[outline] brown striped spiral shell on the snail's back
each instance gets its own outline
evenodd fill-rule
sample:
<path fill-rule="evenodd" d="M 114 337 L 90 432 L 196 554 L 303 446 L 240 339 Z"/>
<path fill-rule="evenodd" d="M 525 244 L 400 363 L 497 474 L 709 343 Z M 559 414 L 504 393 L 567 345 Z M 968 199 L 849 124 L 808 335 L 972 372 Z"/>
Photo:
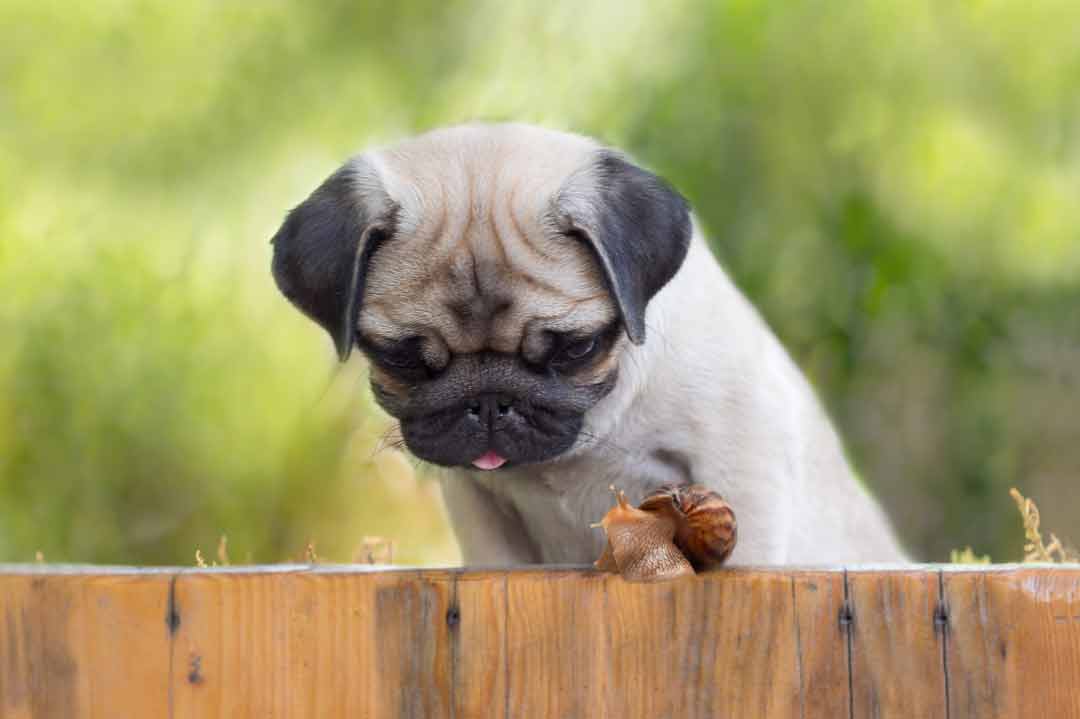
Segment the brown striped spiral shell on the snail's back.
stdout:
<path fill-rule="evenodd" d="M 701 485 L 663 488 L 640 504 L 646 512 L 675 520 L 675 546 L 698 571 L 723 565 L 739 539 L 739 525 L 731 505 Z"/>

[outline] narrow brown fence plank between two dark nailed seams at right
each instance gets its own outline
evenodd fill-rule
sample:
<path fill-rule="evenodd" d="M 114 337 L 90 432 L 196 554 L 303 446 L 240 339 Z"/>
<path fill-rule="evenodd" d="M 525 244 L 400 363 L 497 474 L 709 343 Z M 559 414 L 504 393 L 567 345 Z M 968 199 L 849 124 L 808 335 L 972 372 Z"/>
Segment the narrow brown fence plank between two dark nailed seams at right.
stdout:
<path fill-rule="evenodd" d="M 947 716 L 939 572 L 848 574 L 852 716 Z"/>

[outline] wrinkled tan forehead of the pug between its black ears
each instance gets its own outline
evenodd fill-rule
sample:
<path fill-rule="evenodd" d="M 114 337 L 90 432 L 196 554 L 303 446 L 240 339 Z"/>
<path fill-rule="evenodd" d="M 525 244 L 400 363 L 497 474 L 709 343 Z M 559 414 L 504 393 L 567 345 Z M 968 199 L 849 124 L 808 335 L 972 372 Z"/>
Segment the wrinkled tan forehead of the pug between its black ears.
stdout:
<path fill-rule="evenodd" d="M 389 306 L 384 320 L 422 326 L 458 354 L 517 352 L 538 317 L 558 318 L 562 331 L 613 315 L 593 254 L 548 217 L 554 194 L 595 147 L 550 131 L 484 125 L 377 151 L 404 219 L 374 258 L 365 302 Z"/>

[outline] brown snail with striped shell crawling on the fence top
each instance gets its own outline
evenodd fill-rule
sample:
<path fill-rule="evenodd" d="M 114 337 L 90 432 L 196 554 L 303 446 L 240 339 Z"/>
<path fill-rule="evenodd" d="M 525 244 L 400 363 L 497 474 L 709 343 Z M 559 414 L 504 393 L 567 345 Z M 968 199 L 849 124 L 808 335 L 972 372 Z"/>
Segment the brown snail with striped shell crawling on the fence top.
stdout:
<path fill-rule="evenodd" d="M 659 489 L 636 508 L 623 492 L 611 491 L 616 506 L 593 525 L 608 538 L 597 569 L 630 581 L 660 581 L 719 567 L 734 548 L 734 512 L 710 489 Z"/>

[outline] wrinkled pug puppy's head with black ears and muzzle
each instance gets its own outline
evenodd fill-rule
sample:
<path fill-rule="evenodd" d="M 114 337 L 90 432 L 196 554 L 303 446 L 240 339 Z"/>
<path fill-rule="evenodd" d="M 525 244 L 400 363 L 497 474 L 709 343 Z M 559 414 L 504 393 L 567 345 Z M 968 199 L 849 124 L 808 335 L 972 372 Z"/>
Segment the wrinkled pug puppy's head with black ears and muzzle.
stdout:
<path fill-rule="evenodd" d="M 495 469 L 575 444 L 690 234 L 683 198 L 619 152 L 467 125 L 348 161 L 288 214 L 272 269 L 342 360 L 367 355 L 414 455 Z"/>

